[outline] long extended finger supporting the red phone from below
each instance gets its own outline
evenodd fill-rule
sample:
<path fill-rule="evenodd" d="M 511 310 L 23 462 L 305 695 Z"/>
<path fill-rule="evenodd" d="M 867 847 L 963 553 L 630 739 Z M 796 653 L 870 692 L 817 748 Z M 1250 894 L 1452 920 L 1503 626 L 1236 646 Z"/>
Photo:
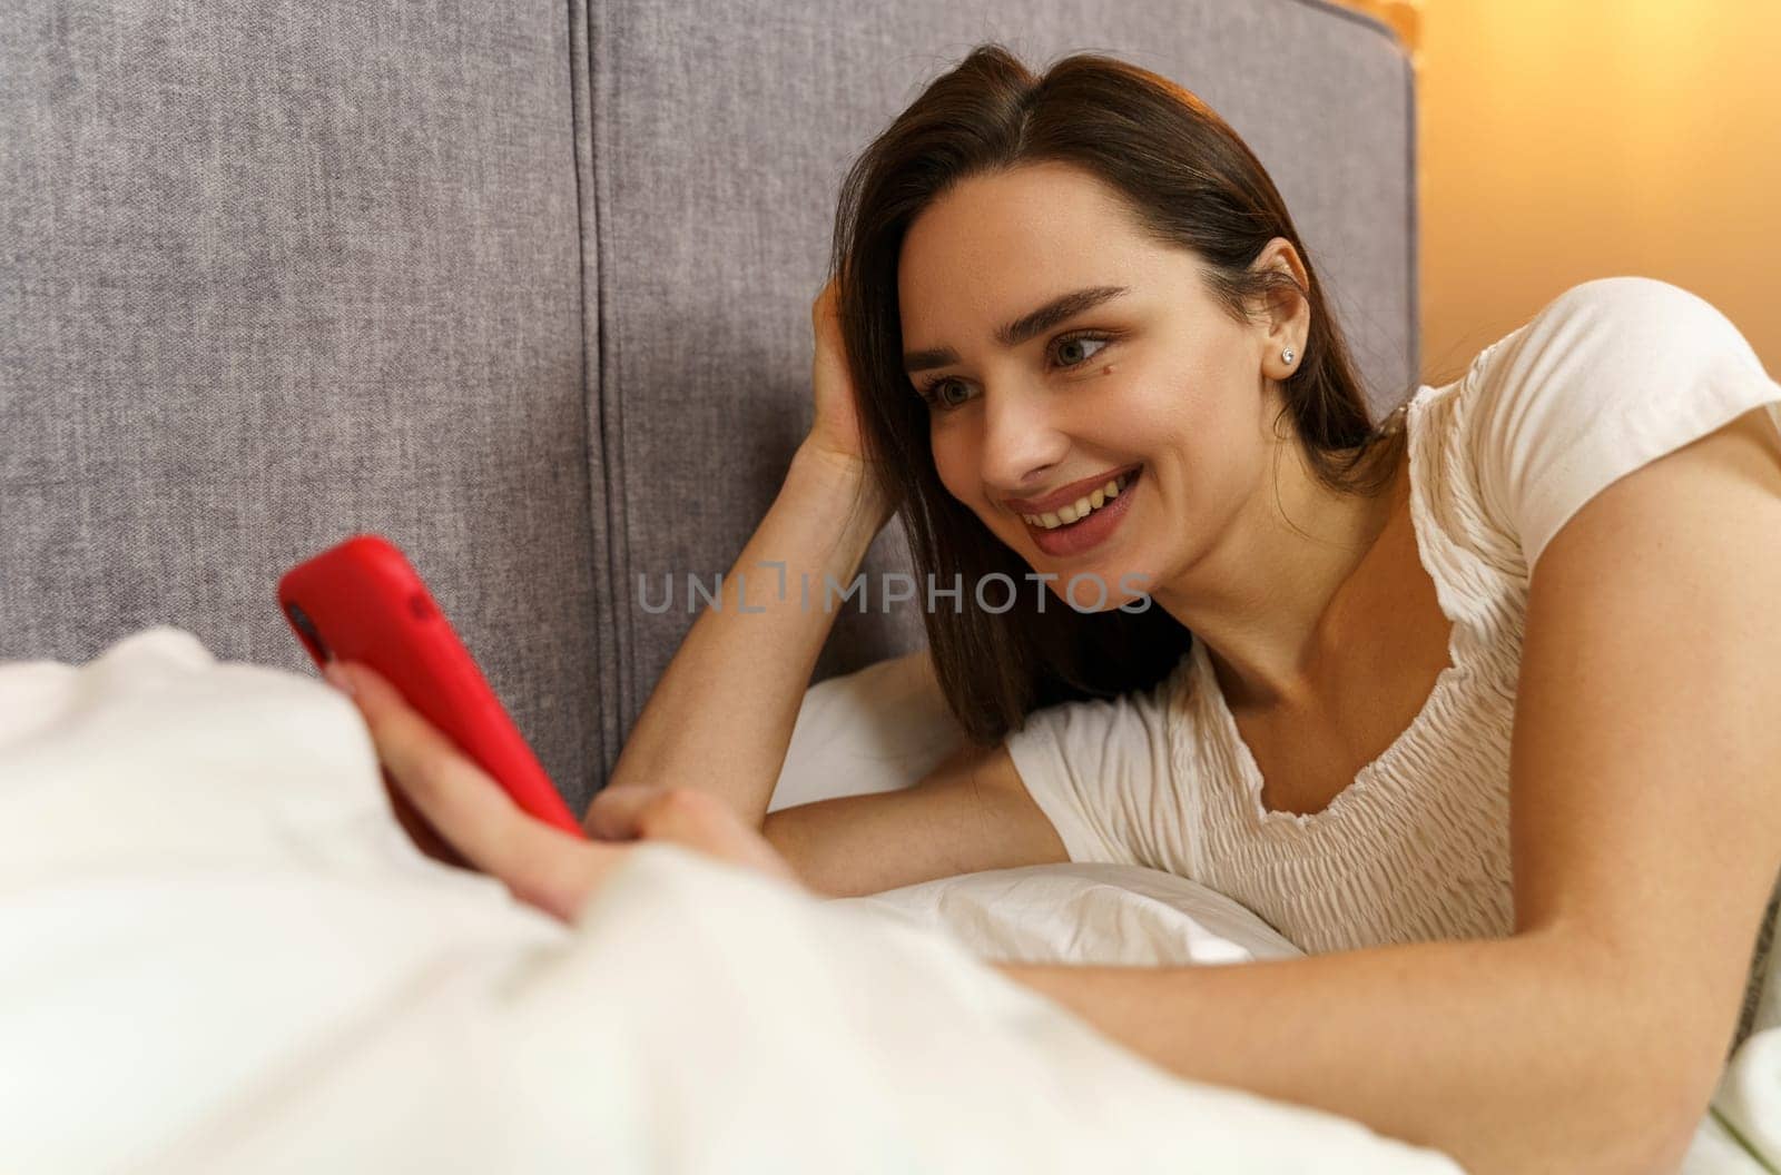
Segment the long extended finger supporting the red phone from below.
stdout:
<path fill-rule="evenodd" d="M 552 865 L 559 842 L 577 840 L 522 812 L 500 783 L 376 669 L 358 662 L 335 666 L 353 685 L 353 701 L 388 774 L 419 815 L 483 872 L 509 887 L 538 888 L 534 874 Z"/>

